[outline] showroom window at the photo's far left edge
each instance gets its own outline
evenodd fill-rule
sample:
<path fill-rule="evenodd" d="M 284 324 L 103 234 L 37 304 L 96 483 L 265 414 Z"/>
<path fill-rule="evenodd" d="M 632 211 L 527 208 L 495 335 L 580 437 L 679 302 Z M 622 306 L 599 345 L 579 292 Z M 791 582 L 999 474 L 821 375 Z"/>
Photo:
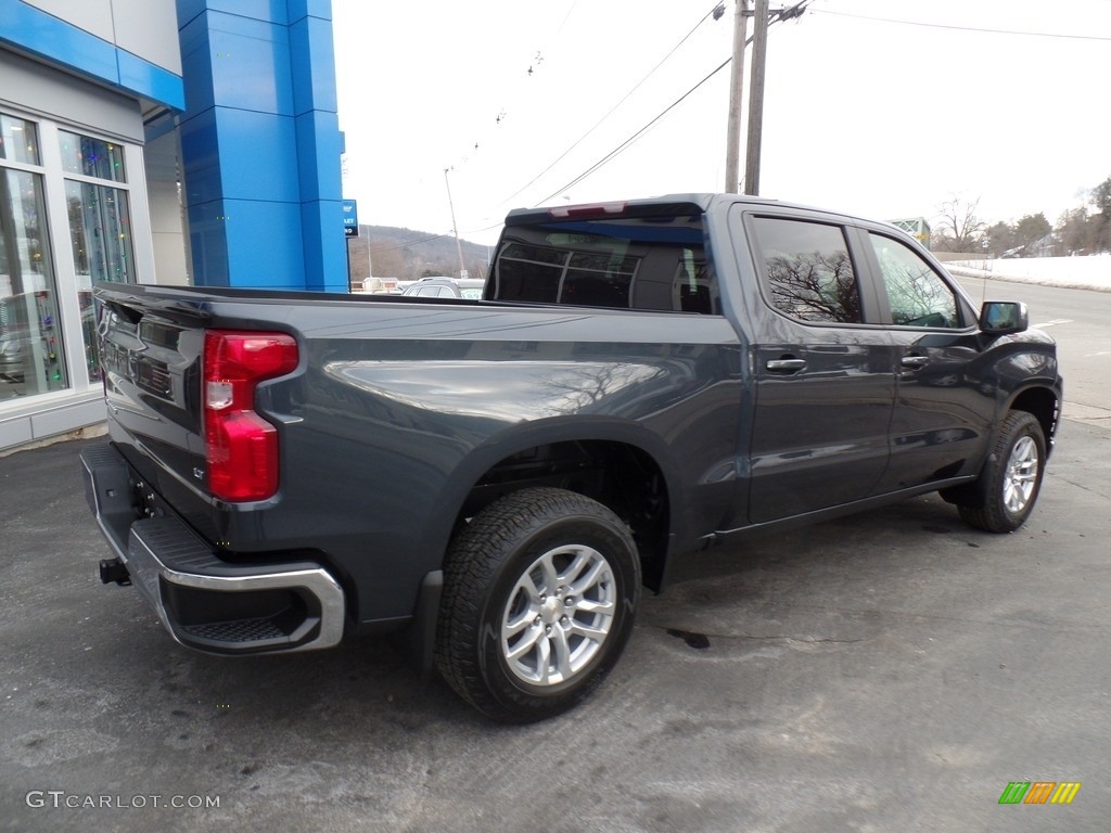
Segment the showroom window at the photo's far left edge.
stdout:
<path fill-rule="evenodd" d="M 0 400 L 69 387 L 33 121 L 0 113 Z"/>

